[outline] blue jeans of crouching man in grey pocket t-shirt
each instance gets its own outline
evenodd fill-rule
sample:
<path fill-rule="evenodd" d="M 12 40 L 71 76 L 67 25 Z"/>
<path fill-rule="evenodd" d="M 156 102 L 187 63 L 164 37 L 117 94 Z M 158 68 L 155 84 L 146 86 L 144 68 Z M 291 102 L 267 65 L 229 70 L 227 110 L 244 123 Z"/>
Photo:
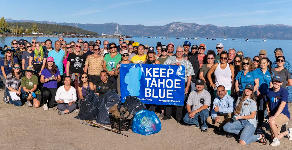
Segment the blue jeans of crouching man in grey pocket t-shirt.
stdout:
<path fill-rule="evenodd" d="M 199 125 L 199 121 L 198 121 L 199 116 L 200 116 L 201 124 L 202 124 L 201 129 L 207 129 L 208 126 L 207 126 L 206 119 L 209 116 L 208 109 L 203 109 L 201 112 L 195 114 L 194 118 L 189 118 L 189 113 L 185 114 L 184 122 L 187 124 Z"/>

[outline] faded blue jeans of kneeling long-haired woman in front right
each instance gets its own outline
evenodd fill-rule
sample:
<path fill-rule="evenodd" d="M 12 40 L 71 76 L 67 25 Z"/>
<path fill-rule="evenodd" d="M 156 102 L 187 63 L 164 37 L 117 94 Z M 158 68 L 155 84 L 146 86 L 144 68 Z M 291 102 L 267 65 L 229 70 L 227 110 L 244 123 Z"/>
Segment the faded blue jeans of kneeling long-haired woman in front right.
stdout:
<path fill-rule="evenodd" d="M 245 119 L 228 122 L 223 126 L 223 129 L 228 133 L 234 133 L 237 135 L 240 133 L 239 139 L 245 141 L 246 145 L 253 141 L 260 140 L 260 135 L 253 134 L 256 131 L 256 127 Z"/>

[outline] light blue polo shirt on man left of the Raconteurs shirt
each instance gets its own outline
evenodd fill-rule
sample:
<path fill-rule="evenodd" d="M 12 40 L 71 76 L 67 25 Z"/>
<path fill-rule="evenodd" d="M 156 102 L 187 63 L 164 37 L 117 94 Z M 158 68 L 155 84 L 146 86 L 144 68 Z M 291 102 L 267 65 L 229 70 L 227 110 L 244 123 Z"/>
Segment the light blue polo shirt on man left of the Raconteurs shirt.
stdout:
<path fill-rule="evenodd" d="M 63 65 L 64 55 L 65 55 L 65 52 L 61 49 L 59 50 L 59 52 L 56 52 L 56 50 L 51 50 L 49 51 L 49 54 L 48 54 L 48 57 L 54 58 L 54 62 L 60 71 L 60 75 L 64 75 L 64 65 Z"/>

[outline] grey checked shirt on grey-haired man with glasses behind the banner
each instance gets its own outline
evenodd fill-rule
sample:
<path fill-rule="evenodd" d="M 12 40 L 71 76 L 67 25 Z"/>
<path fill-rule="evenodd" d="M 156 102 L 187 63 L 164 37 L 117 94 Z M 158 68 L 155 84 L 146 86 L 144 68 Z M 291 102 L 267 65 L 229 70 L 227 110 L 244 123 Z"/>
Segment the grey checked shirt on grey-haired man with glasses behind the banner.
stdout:
<path fill-rule="evenodd" d="M 191 64 L 191 62 L 189 62 L 188 60 L 185 60 L 185 58 L 183 58 L 182 60 L 178 61 L 176 59 L 176 56 L 170 56 L 169 58 L 167 58 L 167 60 L 164 62 L 164 65 L 171 65 L 174 63 L 179 62 L 182 66 L 185 66 L 185 83 L 188 82 L 188 77 L 189 76 L 193 76 L 195 75 L 193 66 Z"/>

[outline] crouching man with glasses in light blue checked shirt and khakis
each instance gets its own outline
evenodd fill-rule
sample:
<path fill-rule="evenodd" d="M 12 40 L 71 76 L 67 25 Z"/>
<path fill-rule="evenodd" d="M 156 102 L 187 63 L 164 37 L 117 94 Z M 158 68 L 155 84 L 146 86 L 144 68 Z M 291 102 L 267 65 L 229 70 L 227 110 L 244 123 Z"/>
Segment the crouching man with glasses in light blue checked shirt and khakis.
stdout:
<path fill-rule="evenodd" d="M 234 99 L 226 93 L 227 91 L 223 85 L 217 87 L 218 97 L 214 99 L 211 116 L 207 118 L 207 122 L 219 127 L 219 131 L 224 124 L 232 120 L 231 113 L 234 110 Z"/>

